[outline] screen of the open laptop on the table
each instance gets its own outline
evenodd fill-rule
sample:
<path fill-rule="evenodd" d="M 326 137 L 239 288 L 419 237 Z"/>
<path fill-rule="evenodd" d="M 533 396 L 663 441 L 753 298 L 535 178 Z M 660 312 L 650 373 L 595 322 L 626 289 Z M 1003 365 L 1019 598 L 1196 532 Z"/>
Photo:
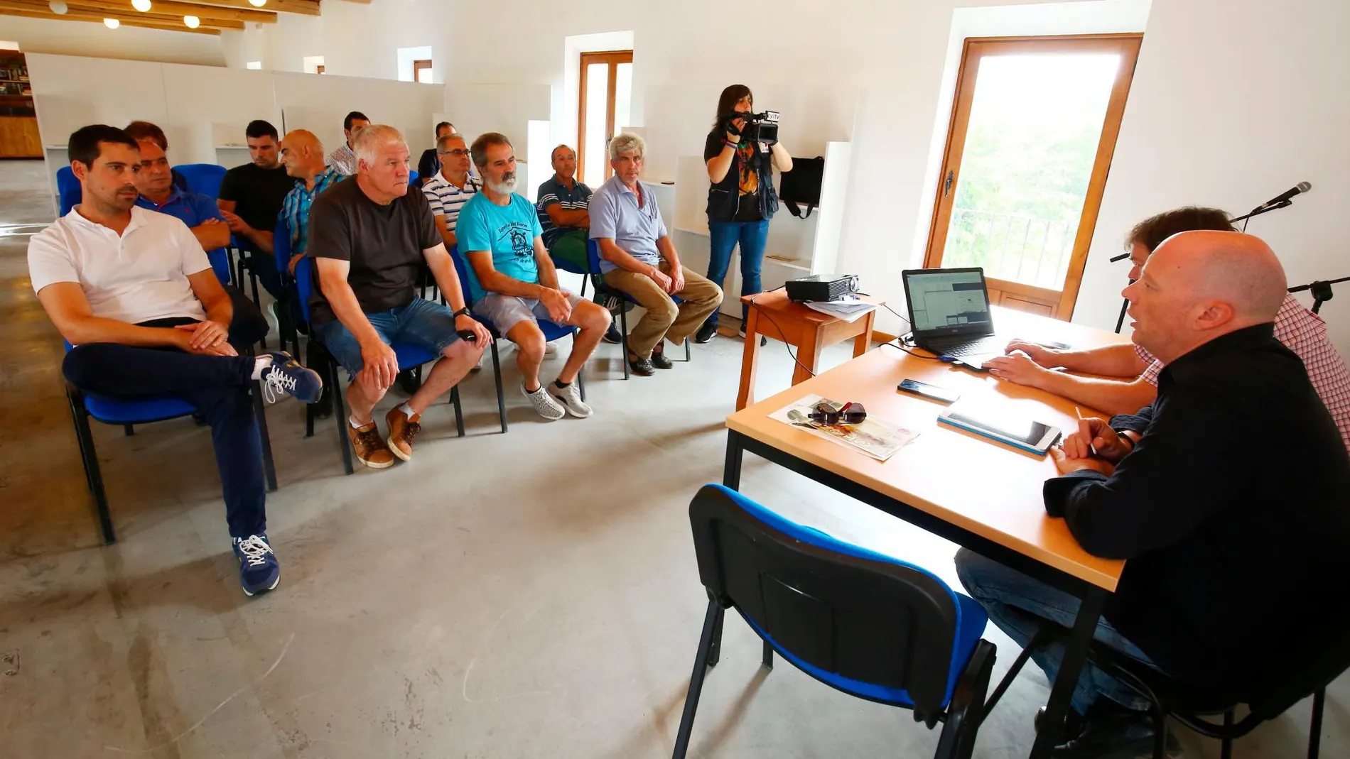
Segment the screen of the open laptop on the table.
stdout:
<path fill-rule="evenodd" d="M 906 270 L 903 276 L 915 337 L 994 333 L 983 270 Z"/>

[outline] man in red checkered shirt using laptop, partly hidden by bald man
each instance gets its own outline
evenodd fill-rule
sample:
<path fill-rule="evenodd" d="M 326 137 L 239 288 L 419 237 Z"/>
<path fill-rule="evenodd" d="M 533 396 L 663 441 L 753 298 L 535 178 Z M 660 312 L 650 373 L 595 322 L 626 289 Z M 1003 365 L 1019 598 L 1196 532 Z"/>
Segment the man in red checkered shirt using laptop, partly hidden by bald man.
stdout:
<path fill-rule="evenodd" d="M 1137 224 L 1126 237 L 1130 263 L 1134 264 L 1130 280 L 1139 278 L 1143 263 L 1164 240 L 1196 229 L 1234 231 L 1227 213 L 1195 206 L 1160 213 Z M 1293 295 L 1287 295 L 1274 317 L 1274 336 L 1303 359 L 1312 387 L 1331 413 L 1341 430 L 1341 439 L 1350 449 L 1350 371 L 1327 340 L 1326 322 Z M 1162 363 L 1138 345 L 1076 351 L 1026 340 L 1008 342 L 1007 356 L 992 359 L 984 365 L 1000 380 L 1037 387 L 1110 414 L 1133 414 L 1153 403 L 1158 391 L 1158 372 L 1162 371 Z M 1134 379 L 1081 377 L 1054 368 Z"/>

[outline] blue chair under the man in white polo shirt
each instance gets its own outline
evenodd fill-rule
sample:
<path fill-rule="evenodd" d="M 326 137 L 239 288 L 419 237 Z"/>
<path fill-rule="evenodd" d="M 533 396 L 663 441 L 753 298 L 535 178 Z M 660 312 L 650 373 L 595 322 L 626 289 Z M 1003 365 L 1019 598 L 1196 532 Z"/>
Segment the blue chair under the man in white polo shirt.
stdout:
<path fill-rule="evenodd" d="M 70 344 L 66 342 L 66 352 Z M 103 472 L 99 468 L 99 452 L 93 444 L 93 430 L 89 427 L 89 418 L 94 418 L 105 425 L 122 425 L 127 435 L 134 434 L 134 425 L 148 425 L 163 422 L 180 417 L 190 417 L 197 408 L 186 400 L 176 396 L 146 396 L 146 398 L 115 398 L 96 392 L 85 392 L 72 383 L 66 384 L 66 402 L 70 404 L 70 417 L 76 425 L 76 439 L 80 442 L 80 458 L 84 462 L 85 484 L 93 495 L 94 508 L 99 514 L 99 527 L 103 531 L 104 545 L 117 542 L 117 534 L 112 527 L 112 514 L 108 510 L 108 495 L 103 488 Z M 258 382 L 252 383 L 254 411 L 258 414 L 258 434 L 262 438 L 262 462 L 267 476 L 267 489 L 277 489 L 277 468 L 271 460 L 271 439 L 267 434 L 267 417 L 263 414 L 262 388 Z"/>

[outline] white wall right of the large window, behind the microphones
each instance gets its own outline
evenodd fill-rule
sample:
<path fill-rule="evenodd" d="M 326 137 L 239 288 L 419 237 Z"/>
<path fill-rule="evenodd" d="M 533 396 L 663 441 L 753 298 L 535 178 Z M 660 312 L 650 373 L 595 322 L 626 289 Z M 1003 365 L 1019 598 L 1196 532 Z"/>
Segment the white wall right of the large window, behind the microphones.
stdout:
<path fill-rule="evenodd" d="M 1154 1 L 1075 321 L 1115 325 L 1127 264 L 1107 259 L 1134 222 L 1185 204 L 1246 213 L 1300 181 L 1312 191 L 1247 231 L 1270 243 L 1291 286 L 1350 276 L 1347 31 L 1343 0 Z M 1346 284 L 1322 310 L 1342 356 Z"/>

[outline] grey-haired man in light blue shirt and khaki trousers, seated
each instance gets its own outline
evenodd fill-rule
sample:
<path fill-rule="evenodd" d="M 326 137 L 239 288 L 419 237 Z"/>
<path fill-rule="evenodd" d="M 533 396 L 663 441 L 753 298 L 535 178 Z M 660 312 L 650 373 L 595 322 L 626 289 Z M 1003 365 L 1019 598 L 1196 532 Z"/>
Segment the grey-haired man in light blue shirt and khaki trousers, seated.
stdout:
<path fill-rule="evenodd" d="M 614 175 L 595 190 L 589 209 L 605 284 L 647 310 L 628 334 L 628 365 L 640 376 L 672 368 L 663 351 L 666 340 L 679 345 L 722 305 L 721 287 L 680 266 L 656 197 L 637 179 L 645 151 L 637 135 L 610 140 Z"/>

